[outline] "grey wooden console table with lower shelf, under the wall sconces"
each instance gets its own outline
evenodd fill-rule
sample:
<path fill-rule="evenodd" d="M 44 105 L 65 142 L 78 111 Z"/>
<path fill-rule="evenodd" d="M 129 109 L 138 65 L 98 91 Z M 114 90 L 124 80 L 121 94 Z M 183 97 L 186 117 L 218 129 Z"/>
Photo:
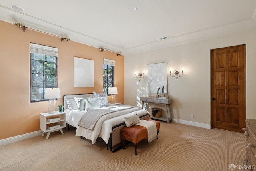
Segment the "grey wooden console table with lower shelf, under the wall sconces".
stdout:
<path fill-rule="evenodd" d="M 140 101 L 142 101 L 141 108 L 143 109 L 144 103 L 156 103 L 160 105 L 165 105 L 166 108 L 166 117 L 151 117 L 155 120 L 167 121 L 169 122 L 172 120 L 172 111 L 170 104 L 172 103 L 172 99 L 157 99 L 156 97 L 140 97 Z M 148 110 L 148 105 L 146 106 L 146 110 Z"/>

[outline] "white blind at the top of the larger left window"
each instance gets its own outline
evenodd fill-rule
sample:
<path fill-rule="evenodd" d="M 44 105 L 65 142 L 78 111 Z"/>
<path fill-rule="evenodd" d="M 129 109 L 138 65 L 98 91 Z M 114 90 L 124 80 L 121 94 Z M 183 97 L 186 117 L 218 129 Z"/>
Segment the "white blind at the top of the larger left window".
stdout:
<path fill-rule="evenodd" d="M 58 56 L 58 48 L 30 43 L 30 53 Z"/>

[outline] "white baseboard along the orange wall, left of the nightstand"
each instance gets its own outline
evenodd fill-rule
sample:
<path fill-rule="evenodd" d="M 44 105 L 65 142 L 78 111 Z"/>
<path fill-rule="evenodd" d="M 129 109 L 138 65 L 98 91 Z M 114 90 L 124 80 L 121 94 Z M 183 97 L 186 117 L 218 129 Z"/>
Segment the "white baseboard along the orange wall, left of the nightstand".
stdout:
<path fill-rule="evenodd" d="M 38 135 L 42 135 L 42 133 L 43 133 L 43 131 L 35 131 L 35 132 L 30 132 L 30 133 L 18 135 L 18 136 L 15 136 L 15 137 L 1 139 L 0 140 L 0 146 L 10 144 L 10 143 L 15 143 L 15 142 L 18 142 L 18 141 L 21 141 L 21 140 L 24 140 L 24 139 L 36 137 Z"/>

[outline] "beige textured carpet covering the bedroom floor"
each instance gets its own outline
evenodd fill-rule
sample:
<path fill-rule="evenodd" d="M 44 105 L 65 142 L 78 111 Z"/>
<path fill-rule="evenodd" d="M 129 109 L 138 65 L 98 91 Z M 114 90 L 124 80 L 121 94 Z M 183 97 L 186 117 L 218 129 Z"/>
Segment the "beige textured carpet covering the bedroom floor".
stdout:
<path fill-rule="evenodd" d="M 0 147 L 0 171 L 230 171 L 246 165 L 242 133 L 160 122 L 159 139 L 142 140 L 116 153 L 98 138 L 75 136 L 75 129 L 38 136 Z M 241 171 L 241 169 L 240 169 Z"/>

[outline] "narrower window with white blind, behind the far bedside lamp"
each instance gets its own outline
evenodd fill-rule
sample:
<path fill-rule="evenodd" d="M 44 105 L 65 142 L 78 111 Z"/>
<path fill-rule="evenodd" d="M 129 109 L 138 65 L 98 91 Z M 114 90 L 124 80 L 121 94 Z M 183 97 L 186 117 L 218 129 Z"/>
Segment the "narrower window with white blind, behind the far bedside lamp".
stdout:
<path fill-rule="evenodd" d="M 103 59 L 103 91 L 108 94 L 108 87 L 114 87 L 114 60 Z"/>

